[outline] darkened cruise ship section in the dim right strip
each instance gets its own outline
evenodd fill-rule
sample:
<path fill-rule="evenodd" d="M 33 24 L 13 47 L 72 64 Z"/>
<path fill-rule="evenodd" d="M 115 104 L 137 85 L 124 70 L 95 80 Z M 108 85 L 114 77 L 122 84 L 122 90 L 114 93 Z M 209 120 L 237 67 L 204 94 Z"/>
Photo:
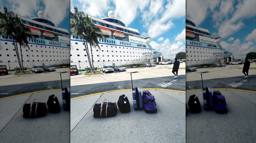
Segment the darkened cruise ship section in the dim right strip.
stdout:
<path fill-rule="evenodd" d="M 232 53 L 225 51 L 220 42 L 220 37 L 211 36 L 207 29 L 186 19 L 186 65 L 226 62 Z"/>

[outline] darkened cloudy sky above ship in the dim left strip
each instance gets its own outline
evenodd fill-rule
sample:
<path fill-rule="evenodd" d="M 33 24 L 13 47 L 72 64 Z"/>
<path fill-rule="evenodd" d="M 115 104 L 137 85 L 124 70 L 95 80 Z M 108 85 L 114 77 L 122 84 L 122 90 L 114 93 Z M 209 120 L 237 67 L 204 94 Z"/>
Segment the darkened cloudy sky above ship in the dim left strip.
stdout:
<path fill-rule="evenodd" d="M 0 0 L 0 6 L 27 18 L 37 17 L 42 10 L 55 26 L 70 31 L 70 0 Z"/>

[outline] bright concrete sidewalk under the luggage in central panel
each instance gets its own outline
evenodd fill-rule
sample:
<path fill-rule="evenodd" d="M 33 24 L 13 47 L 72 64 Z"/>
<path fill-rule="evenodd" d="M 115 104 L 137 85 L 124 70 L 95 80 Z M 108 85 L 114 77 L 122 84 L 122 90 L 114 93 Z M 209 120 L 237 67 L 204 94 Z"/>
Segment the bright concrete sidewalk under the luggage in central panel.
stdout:
<path fill-rule="evenodd" d="M 143 90 L 143 89 L 142 89 Z M 185 142 L 185 93 L 148 89 L 156 98 L 157 113 L 135 111 L 132 90 L 99 93 L 71 100 L 71 142 Z M 117 102 L 125 94 L 130 112 L 94 118 L 93 106 L 105 99 Z"/>

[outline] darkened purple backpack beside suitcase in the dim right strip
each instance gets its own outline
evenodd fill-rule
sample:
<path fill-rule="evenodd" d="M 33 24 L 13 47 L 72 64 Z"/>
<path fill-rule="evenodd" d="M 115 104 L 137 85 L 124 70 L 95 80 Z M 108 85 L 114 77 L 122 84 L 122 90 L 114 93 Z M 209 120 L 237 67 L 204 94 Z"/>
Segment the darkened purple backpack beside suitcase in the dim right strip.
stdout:
<path fill-rule="evenodd" d="M 216 113 L 227 113 L 227 103 L 219 90 L 213 90 L 214 110 Z"/>

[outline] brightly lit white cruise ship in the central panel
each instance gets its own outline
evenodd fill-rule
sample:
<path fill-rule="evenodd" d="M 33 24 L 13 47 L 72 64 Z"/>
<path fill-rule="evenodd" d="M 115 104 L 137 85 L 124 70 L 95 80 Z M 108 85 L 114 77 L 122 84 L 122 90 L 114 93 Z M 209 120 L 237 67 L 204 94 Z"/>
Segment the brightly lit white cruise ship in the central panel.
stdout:
<path fill-rule="evenodd" d="M 158 61 L 158 57 L 162 53 L 151 47 L 149 44 L 150 37 L 140 36 L 137 29 L 126 27 L 122 21 L 115 18 L 113 11 L 110 10 L 108 16 L 100 19 L 88 15 L 94 24 L 101 29 L 100 34 L 106 38 L 98 39 L 100 49 L 92 47 L 94 67 L 152 62 L 152 59 L 153 62 Z M 71 64 L 81 67 L 80 69 L 89 68 L 83 40 L 71 35 L 70 42 Z"/>

